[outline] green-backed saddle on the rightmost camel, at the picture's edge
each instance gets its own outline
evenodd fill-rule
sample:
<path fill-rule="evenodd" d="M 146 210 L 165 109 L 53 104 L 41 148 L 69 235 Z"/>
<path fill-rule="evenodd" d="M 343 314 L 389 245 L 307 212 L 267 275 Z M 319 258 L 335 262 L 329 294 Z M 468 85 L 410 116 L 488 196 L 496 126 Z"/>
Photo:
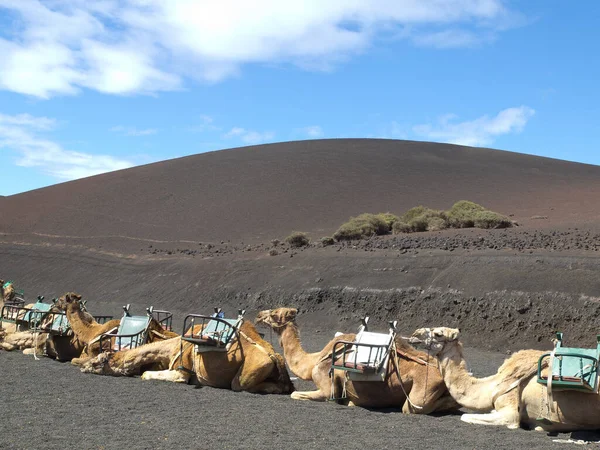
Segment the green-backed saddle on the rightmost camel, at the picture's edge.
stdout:
<path fill-rule="evenodd" d="M 564 347 L 563 334 L 556 333 L 554 351 L 544 353 L 538 361 L 537 382 L 548 386 L 548 375 L 542 375 L 545 360 L 552 370 L 552 389 L 598 393 L 600 335 L 596 336 L 596 348 L 589 349 Z"/>

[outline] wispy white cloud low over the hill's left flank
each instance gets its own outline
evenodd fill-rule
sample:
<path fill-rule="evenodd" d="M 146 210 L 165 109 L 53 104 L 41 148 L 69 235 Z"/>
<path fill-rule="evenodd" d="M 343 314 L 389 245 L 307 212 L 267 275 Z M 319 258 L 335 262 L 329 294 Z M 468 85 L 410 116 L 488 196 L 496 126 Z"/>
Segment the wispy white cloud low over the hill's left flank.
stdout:
<path fill-rule="evenodd" d="M 16 164 L 38 168 L 60 180 L 73 180 L 133 166 L 129 161 L 108 155 L 66 150 L 40 133 L 50 131 L 55 121 L 29 114 L 0 114 L 0 149 L 17 154 Z"/>

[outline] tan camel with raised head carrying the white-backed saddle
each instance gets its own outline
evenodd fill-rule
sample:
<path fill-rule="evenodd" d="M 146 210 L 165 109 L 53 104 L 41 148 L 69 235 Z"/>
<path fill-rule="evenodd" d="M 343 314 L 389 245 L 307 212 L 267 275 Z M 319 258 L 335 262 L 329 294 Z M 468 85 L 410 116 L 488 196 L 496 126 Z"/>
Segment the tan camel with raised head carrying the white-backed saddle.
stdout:
<path fill-rule="evenodd" d="M 316 391 L 292 393 L 296 400 L 325 401 L 339 397 L 346 382 L 348 404 L 362 407 L 397 407 L 410 414 L 429 414 L 434 411 L 449 411 L 457 408 L 450 397 L 444 381 L 435 366 L 434 359 L 396 339 L 397 357 L 391 357 L 385 381 L 345 380 L 345 373 L 334 371 L 334 380 L 329 376 L 334 344 L 338 341 L 354 341 L 355 334 L 342 334 L 330 341 L 323 350 L 306 353 L 299 338 L 295 319 L 295 308 L 278 308 L 258 313 L 257 323 L 270 326 L 280 337 L 283 354 L 290 370 L 303 380 L 312 380 Z M 408 400 L 408 401 L 407 401 Z"/>

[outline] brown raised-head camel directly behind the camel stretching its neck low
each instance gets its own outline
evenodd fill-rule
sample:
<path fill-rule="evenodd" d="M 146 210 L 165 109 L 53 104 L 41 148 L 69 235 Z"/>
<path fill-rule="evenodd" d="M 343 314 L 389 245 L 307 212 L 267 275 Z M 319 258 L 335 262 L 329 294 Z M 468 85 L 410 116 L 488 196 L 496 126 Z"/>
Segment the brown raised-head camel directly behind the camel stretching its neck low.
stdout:
<path fill-rule="evenodd" d="M 71 324 L 71 330 L 77 340 L 83 345 L 81 356 L 73 358 L 71 364 L 81 365 L 88 358 L 98 356 L 102 349 L 100 348 L 100 336 L 108 333 L 115 328 L 118 328 L 120 319 L 109 320 L 104 324 L 99 324 L 95 320 L 86 322 L 84 312 L 81 307 L 81 295 L 73 292 L 68 292 L 62 296 L 56 306 L 67 314 L 67 319 Z M 156 340 L 165 340 L 178 336 L 172 331 L 163 330 L 162 326 L 154 319 L 151 320 L 148 327 L 148 340 L 154 342 Z M 110 346 L 114 344 L 114 338 L 111 339 Z"/>

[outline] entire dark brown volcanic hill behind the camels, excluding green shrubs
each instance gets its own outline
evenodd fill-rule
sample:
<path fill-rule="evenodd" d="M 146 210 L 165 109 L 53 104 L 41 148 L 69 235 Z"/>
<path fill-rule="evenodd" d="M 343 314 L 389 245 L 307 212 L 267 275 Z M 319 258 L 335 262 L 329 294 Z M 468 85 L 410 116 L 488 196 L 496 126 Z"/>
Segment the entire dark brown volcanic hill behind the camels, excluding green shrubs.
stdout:
<path fill-rule="evenodd" d="M 485 331 L 476 344 L 502 349 L 545 345 L 554 329 L 586 340 L 600 318 L 598 198 L 598 166 L 499 150 L 375 139 L 245 147 L 0 199 L 0 276 L 29 297 L 78 291 L 96 311 L 285 304 L 318 330 L 354 329 L 368 313 L 404 331 L 458 325 L 467 341 Z M 318 245 L 350 216 L 458 200 L 520 226 Z M 272 248 L 294 230 L 315 244 Z"/>

